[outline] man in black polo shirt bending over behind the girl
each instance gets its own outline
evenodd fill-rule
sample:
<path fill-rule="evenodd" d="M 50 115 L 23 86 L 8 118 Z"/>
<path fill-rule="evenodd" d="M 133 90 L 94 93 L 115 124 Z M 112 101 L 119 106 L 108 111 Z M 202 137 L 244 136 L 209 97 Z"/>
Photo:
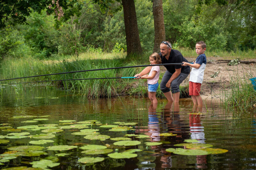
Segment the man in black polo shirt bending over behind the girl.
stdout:
<path fill-rule="evenodd" d="M 182 63 L 188 62 L 178 50 L 172 49 L 172 44 L 168 41 L 163 41 L 160 44 L 159 55 L 162 60 L 162 64 L 166 63 Z M 168 101 L 179 103 L 180 99 L 180 83 L 188 77 L 190 72 L 189 66 L 180 65 L 165 65 L 167 71 L 164 73 L 162 78 L 160 89 L 164 93 L 164 96 Z M 147 74 L 151 67 L 146 67 L 139 74 L 134 77 L 140 77 Z M 170 91 L 171 87 L 171 91 Z"/>

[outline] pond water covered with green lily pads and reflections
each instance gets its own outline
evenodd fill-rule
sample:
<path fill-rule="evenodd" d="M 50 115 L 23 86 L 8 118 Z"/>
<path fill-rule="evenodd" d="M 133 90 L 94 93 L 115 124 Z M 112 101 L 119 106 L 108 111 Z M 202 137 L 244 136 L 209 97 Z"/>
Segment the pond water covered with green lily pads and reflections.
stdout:
<path fill-rule="evenodd" d="M 146 97 L 120 96 L 93 100 L 45 86 L 4 87 L 0 92 L 0 169 L 18 166 L 53 170 L 256 169 L 255 117 L 232 118 L 232 115 L 221 112 L 218 102 L 207 101 L 203 114 L 193 115 L 191 99 L 180 99 L 179 105 L 174 106 L 166 99 L 158 99 L 158 104 L 153 106 Z M 122 125 L 122 122 L 126 124 Z M 114 131 L 110 131 L 112 127 L 100 127 L 106 124 L 126 128 L 116 131 L 118 128 L 114 127 Z M 54 129 L 60 131 L 55 132 Z M 86 134 L 83 129 L 95 130 Z M 28 133 L 19 134 L 22 132 Z M 160 136 L 163 133 L 171 136 Z M 106 139 L 93 139 L 99 134 L 110 138 L 101 136 Z M 118 145 L 117 139 L 113 140 L 116 137 L 129 138 L 128 145 L 138 142 L 132 146 Z M 191 143 L 192 149 L 188 145 L 175 146 L 189 144 L 186 139 L 196 139 Z M 48 140 L 48 143 L 31 142 L 39 140 Z M 157 143 L 150 145 L 152 142 Z M 88 144 L 91 145 L 84 147 Z M 55 149 L 57 145 L 68 146 Z M 92 145 L 106 146 L 108 150 L 90 152 L 88 150 L 95 150 Z M 193 150 L 197 145 L 204 152 Z M 13 148 L 15 146 L 18 149 Z M 211 146 L 214 153 L 202 149 L 206 146 Z M 176 152 L 166 152 L 169 148 L 174 148 Z M 139 150 L 116 154 L 113 158 L 113 153 L 124 153 L 129 149 Z M 102 154 L 103 151 L 109 153 Z M 35 153 L 38 155 L 33 156 Z M 127 155 L 132 158 L 121 158 Z M 98 157 L 93 160 L 99 162 L 89 163 L 90 160 L 82 159 L 84 157 L 90 160 Z"/>

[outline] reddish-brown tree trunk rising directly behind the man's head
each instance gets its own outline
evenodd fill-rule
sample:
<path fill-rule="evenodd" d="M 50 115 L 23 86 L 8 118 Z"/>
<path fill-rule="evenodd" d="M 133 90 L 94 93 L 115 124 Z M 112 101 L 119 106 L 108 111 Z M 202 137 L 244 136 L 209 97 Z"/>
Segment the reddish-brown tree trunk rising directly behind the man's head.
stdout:
<path fill-rule="evenodd" d="M 155 40 L 153 53 L 159 53 L 159 46 L 162 41 L 165 41 L 165 29 L 164 29 L 164 11 L 162 0 L 153 0 L 153 15 L 154 15 L 154 27 L 155 27 Z"/>

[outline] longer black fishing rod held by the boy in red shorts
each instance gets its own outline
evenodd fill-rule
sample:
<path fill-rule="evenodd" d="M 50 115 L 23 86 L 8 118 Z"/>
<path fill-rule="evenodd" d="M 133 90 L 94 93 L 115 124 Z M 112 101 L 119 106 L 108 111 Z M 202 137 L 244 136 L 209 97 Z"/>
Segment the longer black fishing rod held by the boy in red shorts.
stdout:
<path fill-rule="evenodd" d="M 40 76 L 50 76 L 50 75 L 57 75 L 57 74 L 68 74 L 68 73 L 78 73 L 78 72 L 86 72 L 86 71 L 98 71 L 98 70 L 110 70 L 110 69 L 124 69 L 124 68 L 133 68 L 133 67 L 148 67 L 148 66 L 157 66 L 157 65 L 181 65 L 183 63 L 167 63 L 167 64 L 150 64 L 150 65 L 135 65 L 135 66 L 125 66 L 125 67 L 112 67 L 112 68 L 104 68 L 104 69 L 92 69 L 92 70 L 80 70 L 80 71 L 70 71 L 70 72 L 63 72 L 63 73 L 52 73 L 52 74 L 44 74 L 44 75 L 37 75 L 37 76 L 28 76 L 28 77 L 19 77 L 19 78 L 8 78 L 4 80 L 14 80 L 20 78 L 31 78 L 31 77 L 40 77 Z M 193 64 L 193 63 L 190 63 Z"/>

